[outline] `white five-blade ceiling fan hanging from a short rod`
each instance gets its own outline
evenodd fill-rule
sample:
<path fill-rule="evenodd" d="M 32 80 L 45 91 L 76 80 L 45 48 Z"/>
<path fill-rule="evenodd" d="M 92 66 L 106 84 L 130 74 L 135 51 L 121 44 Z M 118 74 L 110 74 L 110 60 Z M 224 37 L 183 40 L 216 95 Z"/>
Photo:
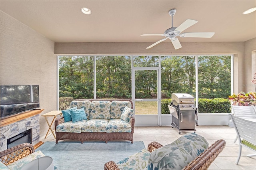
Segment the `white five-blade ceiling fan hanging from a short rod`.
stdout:
<path fill-rule="evenodd" d="M 176 13 L 176 9 L 171 9 L 169 11 L 169 15 L 172 16 L 172 24 L 173 24 L 173 16 Z M 159 40 L 158 42 L 153 43 L 152 45 L 146 47 L 146 49 L 149 49 L 156 44 L 163 42 L 167 40 L 168 38 L 171 40 L 172 45 L 174 46 L 175 49 L 181 48 L 180 41 L 176 37 L 194 37 L 194 38 L 212 38 L 212 36 L 215 34 L 215 32 L 184 32 L 180 34 L 182 31 L 186 30 L 190 26 L 196 24 L 198 21 L 196 20 L 191 20 L 188 19 L 184 21 L 180 26 L 178 27 L 172 27 L 168 28 L 164 34 L 142 34 L 141 36 L 165 36 L 166 38 L 163 38 L 162 40 Z"/>

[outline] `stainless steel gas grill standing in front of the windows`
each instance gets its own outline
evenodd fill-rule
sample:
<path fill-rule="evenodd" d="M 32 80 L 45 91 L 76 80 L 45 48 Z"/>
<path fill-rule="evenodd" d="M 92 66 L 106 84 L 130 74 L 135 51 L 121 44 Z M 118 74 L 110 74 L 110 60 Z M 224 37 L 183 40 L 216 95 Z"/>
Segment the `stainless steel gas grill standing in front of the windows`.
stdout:
<path fill-rule="evenodd" d="M 172 128 L 176 127 L 179 131 L 194 131 L 196 106 L 194 97 L 187 93 L 172 93 L 172 103 L 168 105 L 172 114 Z M 196 120 L 197 125 L 197 120 Z"/>

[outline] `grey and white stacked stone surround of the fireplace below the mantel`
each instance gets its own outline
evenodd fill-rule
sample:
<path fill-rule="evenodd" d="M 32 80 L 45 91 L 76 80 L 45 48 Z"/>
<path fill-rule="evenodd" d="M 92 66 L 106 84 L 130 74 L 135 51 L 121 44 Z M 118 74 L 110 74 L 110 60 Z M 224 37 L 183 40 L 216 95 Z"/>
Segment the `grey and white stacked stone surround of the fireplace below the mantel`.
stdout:
<path fill-rule="evenodd" d="M 32 128 L 32 145 L 39 142 L 39 114 L 0 128 L 0 151 L 7 149 L 7 139 Z"/>

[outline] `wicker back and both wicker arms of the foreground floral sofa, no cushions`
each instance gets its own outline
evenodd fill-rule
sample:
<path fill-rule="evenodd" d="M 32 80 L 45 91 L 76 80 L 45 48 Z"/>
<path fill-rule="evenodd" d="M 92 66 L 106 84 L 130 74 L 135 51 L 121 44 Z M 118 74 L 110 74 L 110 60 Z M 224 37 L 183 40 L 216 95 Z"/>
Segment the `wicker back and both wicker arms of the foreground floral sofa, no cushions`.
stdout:
<path fill-rule="evenodd" d="M 192 160 L 187 166 L 182 170 L 207 170 L 210 164 L 218 156 L 218 154 L 225 147 L 225 140 L 220 139 L 214 142 L 210 147 L 208 147 L 204 152 Z M 162 144 L 158 142 L 151 142 L 148 144 L 148 151 L 152 152 L 160 147 Z M 104 170 L 120 170 L 114 161 L 110 161 L 104 164 Z"/>

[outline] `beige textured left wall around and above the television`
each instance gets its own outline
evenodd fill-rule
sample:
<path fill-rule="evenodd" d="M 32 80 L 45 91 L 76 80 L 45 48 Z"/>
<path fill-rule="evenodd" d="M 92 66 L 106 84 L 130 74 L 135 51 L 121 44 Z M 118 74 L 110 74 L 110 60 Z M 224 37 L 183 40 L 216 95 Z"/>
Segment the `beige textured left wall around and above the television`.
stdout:
<path fill-rule="evenodd" d="M 57 109 L 54 42 L 1 11 L 0 84 L 39 85 L 41 114 Z M 40 116 L 40 137 L 48 125 Z"/>

